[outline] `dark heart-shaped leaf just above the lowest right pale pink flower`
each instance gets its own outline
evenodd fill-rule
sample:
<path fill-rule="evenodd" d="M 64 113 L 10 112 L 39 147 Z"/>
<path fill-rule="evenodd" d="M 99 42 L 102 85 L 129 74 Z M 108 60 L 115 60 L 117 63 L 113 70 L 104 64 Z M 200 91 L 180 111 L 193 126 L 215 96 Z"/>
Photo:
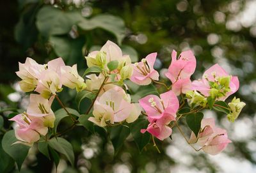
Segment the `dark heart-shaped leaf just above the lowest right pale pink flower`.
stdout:
<path fill-rule="evenodd" d="M 202 112 L 196 112 L 192 114 L 188 114 L 186 116 L 186 122 L 189 128 L 195 133 L 196 137 L 201 128 L 201 121 L 204 117 Z"/>

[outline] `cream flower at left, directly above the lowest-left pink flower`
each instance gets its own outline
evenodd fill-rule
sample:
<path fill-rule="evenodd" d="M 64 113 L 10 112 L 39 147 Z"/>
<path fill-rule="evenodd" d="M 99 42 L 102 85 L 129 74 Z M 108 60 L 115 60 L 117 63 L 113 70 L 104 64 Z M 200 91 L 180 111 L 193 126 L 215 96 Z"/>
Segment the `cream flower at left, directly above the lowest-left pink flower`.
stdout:
<path fill-rule="evenodd" d="M 30 102 L 27 109 L 29 119 L 39 118 L 44 122 L 44 126 L 53 128 L 55 116 L 51 110 L 51 105 L 54 96 L 51 96 L 51 98 L 47 100 L 40 94 L 30 94 L 29 100 Z"/>

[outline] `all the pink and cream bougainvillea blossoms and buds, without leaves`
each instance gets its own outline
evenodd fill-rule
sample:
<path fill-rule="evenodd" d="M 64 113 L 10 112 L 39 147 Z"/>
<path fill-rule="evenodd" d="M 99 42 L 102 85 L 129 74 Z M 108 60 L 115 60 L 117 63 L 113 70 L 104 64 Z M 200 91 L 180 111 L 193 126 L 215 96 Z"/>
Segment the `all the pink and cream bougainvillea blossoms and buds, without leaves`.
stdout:
<path fill-rule="evenodd" d="M 131 63 L 131 58 L 122 54 L 118 45 L 111 41 L 99 51 L 94 51 L 86 57 L 88 68 L 97 67 L 101 70 L 86 76 L 86 80 L 77 73 L 77 66 L 65 66 L 61 58 L 49 61 L 48 64 L 38 64 L 28 58 L 26 63 L 19 65 L 17 75 L 22 79 L 20 88 L 25 91 L 36 91 L 40 94 L 30 95 L 27 112 L 13 117 L 17 122 L 15 135 L 23 142 L 36 142 L 40 135 L 47 133 L 48 127 L 53 127 L 54 114 L 51 110 L 52 100 L 56 93 L 62 90 L 62 85 L 76 91 L 87 90 L 96 92 L 93 101 L 93 116 L 88 120 L 98 126 L 111 126 L 124 122 L 132 123 L 141 114 L 147 116 L 148 127 L 141 129 L 141 133 L 151 133 L 159 140 L 172 135 L 173 123 L 176 123 L 177 112 L 183 107 L 178 96 L 185 98 L 191 110 L 209 107 L 209 98 L 214 101 L 224 101 L 239 88 L 239 80 L 232 77 L 218 64 L 205 71 L 202 79 L 191 81 L 195 72 L 196 59 L 191 50 L 172 52 L 172 63 L 165 74 L 172 82 L 172 86 L 157 82 L 159 73 L 154 70 L 157 53 L 149 54 L 139 63 Z M 145 86 L 156 82 L 163 84 L 167 91 L 159 96 L 150 94 L 141 98 L 139 103 L 131 103 L 131 96 L 127 94 L 125 79 L 135 84 Z M 182 99 L 184 102 L 184 100 Z M 228 103 L 230 121 L 234 121 L 243 109 L 245 103 L 234 98 Z M 199 109 L 198 109 L 199 110 Z M 181 115 L 179 115 L 180 117 Z M 172 124 L 172 125 L 171 125 Z M 214 119 L 202 119 L 198 134 L 191 133 L 190 144 L 198 144 L 205 153 L 217 154 L 223 151 L 230 140 L 227 132 L 214 126 Z"/>

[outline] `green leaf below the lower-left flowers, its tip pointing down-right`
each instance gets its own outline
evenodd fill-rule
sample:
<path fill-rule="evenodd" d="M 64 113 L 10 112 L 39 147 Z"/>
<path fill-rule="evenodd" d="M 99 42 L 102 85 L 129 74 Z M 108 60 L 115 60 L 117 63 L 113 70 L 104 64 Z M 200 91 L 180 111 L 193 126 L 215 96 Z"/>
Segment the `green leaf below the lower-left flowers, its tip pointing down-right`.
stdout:
<path fill-rule="evenodd" d="M 52 138 L 49 140 L 49 146 L 58 151 L 61 154 L 64 154 L 68 161 L 71 163 L 72 167 L 74 166 L 74 151 L 72 145 L 65 139 L 58 137 Z"/>

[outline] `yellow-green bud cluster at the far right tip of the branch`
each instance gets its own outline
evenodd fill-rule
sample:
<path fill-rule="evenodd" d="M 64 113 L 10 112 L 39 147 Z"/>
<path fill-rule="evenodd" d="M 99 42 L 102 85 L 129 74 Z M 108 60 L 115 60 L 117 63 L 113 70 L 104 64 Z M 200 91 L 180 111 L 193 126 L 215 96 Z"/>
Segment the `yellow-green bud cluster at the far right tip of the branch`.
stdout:
<path fill-rule="evenodd" d="M 232 102 L 228 103 L 231 111 L 231 113 L 227 115 L 228 120 L 234 122 L 245 105 L 244 102 L 240 102 L 240 98 L 234 97 Z"/>

